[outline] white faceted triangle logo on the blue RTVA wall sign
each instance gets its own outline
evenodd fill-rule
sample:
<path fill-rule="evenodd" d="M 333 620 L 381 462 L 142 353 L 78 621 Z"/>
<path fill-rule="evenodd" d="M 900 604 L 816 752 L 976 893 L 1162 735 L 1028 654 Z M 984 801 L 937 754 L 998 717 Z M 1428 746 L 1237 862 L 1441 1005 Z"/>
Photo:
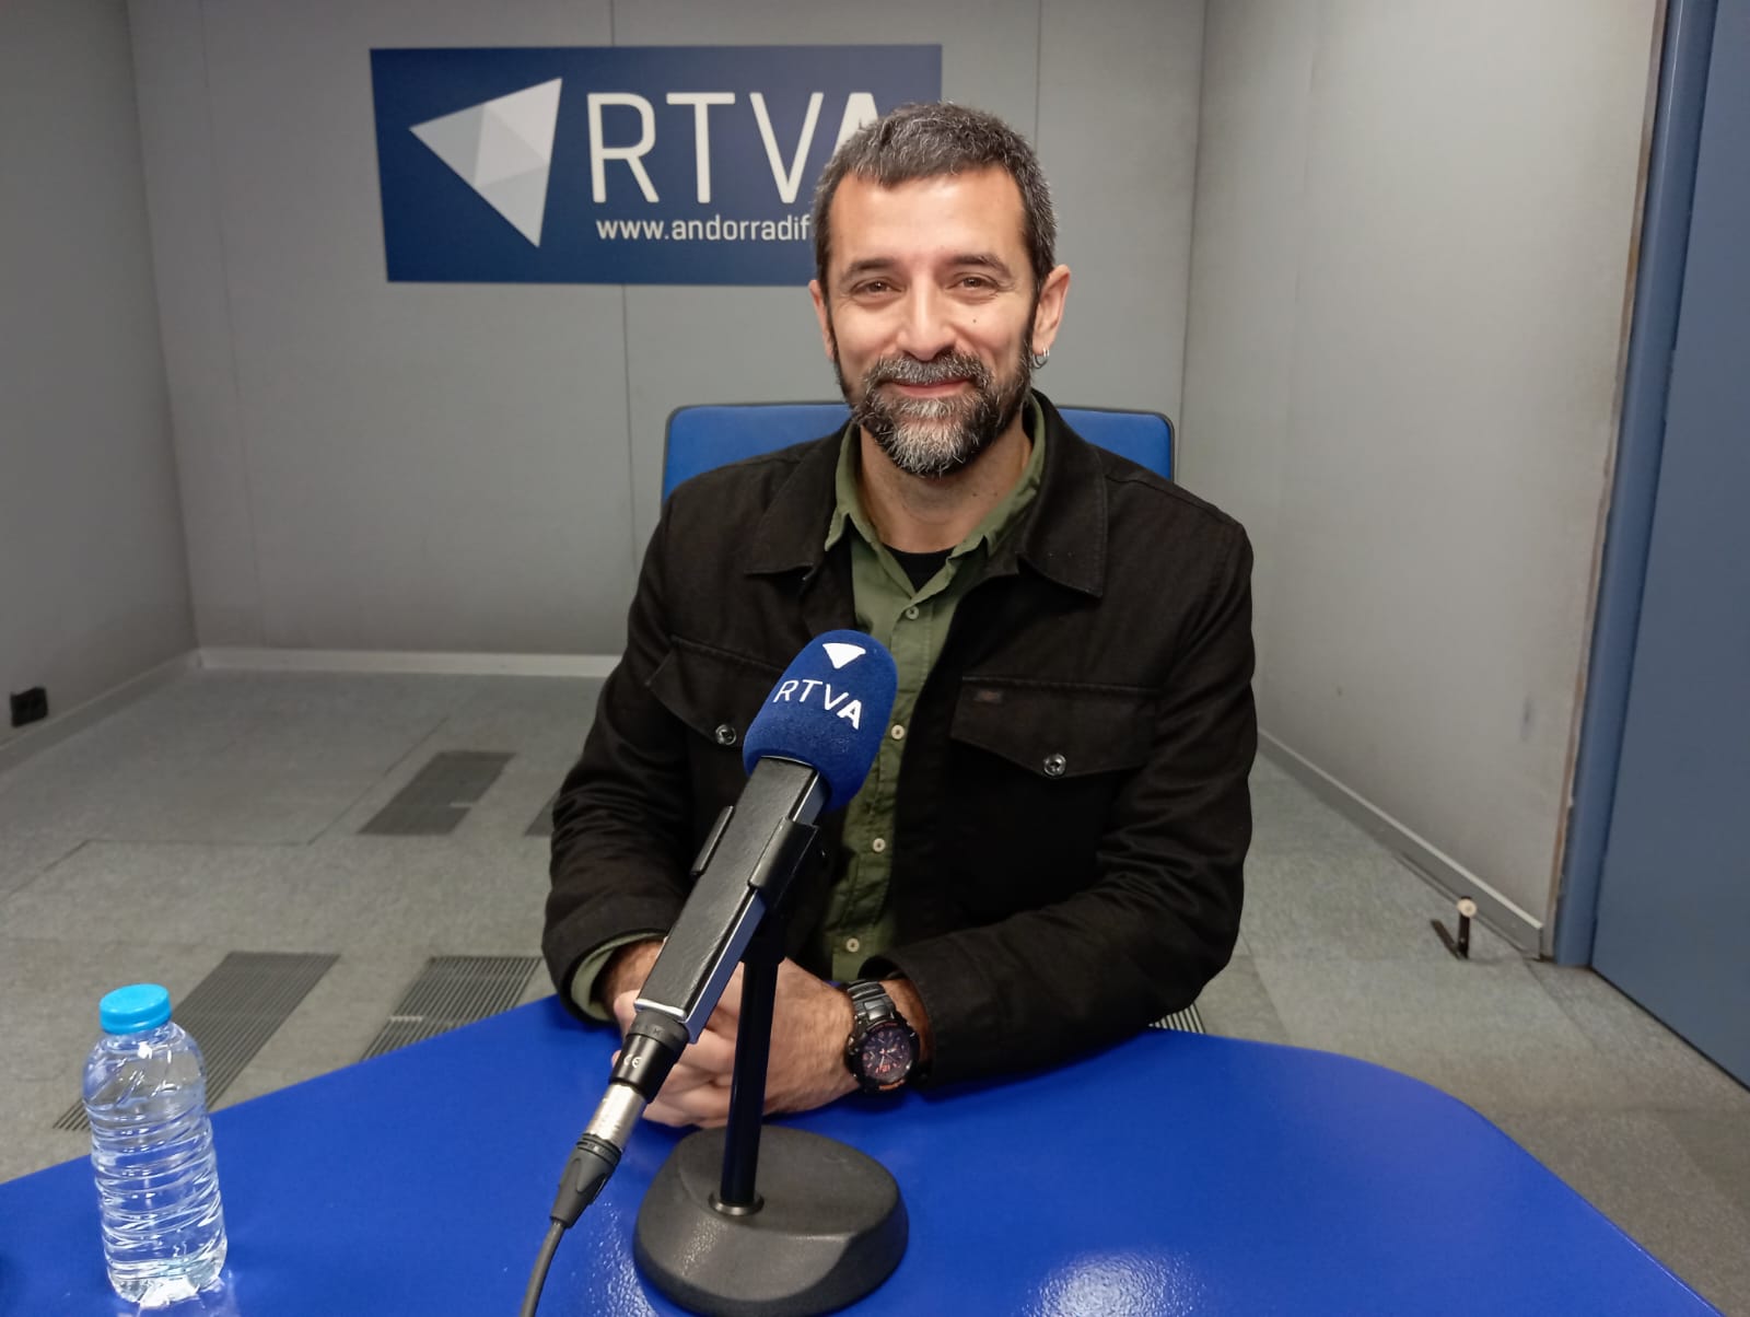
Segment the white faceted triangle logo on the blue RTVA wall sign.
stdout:
<path fill-rule="evenodd" d="M 410 130 L 536 247 L 546 217 L 560 82 L 555 77 Z"/>

